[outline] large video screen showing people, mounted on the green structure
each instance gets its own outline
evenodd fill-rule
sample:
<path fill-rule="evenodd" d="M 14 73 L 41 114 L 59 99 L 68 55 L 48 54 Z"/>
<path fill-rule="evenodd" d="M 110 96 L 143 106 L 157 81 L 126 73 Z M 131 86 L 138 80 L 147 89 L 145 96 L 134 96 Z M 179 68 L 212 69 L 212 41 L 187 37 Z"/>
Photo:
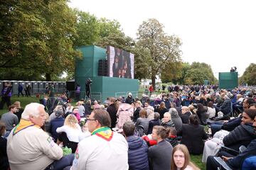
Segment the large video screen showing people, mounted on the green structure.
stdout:
<path fill-rule="evenodd" d="M 110 77 L 134 79 L 134 54 L 109 46 L 108 61 Z"/>

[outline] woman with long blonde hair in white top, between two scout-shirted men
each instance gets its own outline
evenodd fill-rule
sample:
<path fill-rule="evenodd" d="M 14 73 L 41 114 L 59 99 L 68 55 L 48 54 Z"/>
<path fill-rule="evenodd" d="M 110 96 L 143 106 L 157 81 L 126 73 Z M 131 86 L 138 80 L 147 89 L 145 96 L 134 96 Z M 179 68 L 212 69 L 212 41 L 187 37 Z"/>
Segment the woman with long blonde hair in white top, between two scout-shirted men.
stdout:
<path fill-rule="evenodd" d="M 75 153 L 75 149 L 78 147 L 79 137 L 82 134 L 80 125 L 78 125 L 78 119 L 75 115 L 68 115 L 65 118 L 64 125 L 57 128 L 56 132 L 59 133 L 57 144 L 63 142 L 63 146 L 67 146 L 72 149 L 72 153 Z"/>

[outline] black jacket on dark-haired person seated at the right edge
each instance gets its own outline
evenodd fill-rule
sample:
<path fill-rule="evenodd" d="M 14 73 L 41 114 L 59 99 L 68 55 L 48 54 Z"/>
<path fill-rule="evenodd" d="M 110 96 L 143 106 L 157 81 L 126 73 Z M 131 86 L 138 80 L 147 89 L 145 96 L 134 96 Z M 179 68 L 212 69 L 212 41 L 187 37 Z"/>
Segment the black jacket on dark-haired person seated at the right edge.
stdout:
<path fill-rule="evenodd" d="M 256 134 L 251 125 L 239 125 L 224 137 L 223 144 L 238 151 L 241 145 L 247 147 L 255 138 Z"/>

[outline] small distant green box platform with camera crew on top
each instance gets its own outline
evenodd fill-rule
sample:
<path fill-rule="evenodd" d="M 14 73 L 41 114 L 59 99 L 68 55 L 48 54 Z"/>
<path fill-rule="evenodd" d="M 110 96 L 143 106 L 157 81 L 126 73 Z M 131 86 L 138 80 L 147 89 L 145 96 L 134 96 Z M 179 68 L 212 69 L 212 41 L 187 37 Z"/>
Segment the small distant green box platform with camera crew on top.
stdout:
<path fill-rule="evenodd" d="M 234 89 L 238 86 L 238 72 L 220 72 L 219 89 Z"/>

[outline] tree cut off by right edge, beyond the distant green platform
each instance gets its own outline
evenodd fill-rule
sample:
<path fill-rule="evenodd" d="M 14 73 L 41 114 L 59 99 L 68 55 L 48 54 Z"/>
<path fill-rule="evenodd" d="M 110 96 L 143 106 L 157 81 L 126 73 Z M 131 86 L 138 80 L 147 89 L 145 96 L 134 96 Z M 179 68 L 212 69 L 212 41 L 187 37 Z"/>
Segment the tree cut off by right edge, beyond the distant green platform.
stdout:
<path fill-rule="evenodd" d="M 242 74 L 240 84 L 255 85 L 256 84 L 256 64 L 251 63 Z"/>

